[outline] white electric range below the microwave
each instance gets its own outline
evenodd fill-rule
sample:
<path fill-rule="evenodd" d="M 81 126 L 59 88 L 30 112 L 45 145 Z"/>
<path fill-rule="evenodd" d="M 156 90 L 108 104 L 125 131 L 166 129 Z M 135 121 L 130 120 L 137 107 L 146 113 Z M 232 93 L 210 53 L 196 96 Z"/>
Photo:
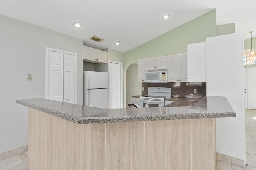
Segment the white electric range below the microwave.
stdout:
<path fill-rule="evenodd" d="M 171 88 L 168 87 L 149 87 L 148 95 L 140 96 L 140 107 L 163 107 L 166 98 L 170 98 Z"/>

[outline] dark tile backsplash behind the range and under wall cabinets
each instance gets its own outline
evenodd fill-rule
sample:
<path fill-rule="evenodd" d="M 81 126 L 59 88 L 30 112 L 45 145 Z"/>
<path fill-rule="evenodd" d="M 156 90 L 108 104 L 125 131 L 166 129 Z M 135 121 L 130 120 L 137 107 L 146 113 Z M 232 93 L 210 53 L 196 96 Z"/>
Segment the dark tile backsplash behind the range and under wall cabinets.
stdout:
<path fill-rule="evenodd" d="M 170 82 L 170 83 L 143 83 L 142 95 L 148 94 L 148 87 L 170 87 L 174 97 L 202 98 L 206 96 L 206 83 Z M 196 89 L 197 93 L 193 93 Z"/>

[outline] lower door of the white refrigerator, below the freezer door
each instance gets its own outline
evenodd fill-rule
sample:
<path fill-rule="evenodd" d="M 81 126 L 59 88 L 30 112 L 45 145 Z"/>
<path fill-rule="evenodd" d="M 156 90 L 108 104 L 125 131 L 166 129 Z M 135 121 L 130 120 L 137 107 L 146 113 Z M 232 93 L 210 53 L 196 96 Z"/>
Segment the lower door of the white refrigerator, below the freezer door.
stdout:
<path fill-rule="evenodd" d="M 108 89 L 87 90 L 86 106 L 97 107 L 101 109 L 108 108 Z"/>

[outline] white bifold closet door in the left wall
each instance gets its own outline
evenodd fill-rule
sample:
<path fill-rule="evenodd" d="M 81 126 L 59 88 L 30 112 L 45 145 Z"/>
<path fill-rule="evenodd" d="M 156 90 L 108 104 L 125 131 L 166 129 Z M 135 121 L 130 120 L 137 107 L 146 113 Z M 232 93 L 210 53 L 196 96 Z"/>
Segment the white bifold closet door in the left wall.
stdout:
<path fill-rule="evenodd" d="M 49 51 L 49 99 L 74 103 L 74 55 Z"/>

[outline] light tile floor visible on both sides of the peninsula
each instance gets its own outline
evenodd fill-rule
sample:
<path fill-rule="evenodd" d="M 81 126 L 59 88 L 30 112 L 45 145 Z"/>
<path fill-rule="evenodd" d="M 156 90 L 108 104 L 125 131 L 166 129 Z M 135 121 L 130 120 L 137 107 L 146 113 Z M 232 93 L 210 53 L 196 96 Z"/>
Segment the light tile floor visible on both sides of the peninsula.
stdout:
<path fill-rule="evenodd" d="M 217 170 L 256 170 L 256 110 L 245 110 L 246 166 L 241 168 L 226 162 L 217 162 Z M 28 152 L 0 161 L 0 170 L 28 170 Z"/>

